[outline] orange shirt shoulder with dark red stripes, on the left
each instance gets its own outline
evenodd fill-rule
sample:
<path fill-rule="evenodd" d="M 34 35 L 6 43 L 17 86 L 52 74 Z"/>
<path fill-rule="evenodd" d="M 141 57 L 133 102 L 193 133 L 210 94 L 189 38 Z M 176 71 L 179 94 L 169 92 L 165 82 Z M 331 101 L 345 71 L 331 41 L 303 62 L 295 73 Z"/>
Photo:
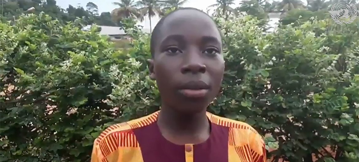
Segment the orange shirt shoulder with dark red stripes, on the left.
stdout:
<path fill-rule="evenodd" d="M 156 121 L 158 113 L 128 122 L 113 124 L 105 129 L 94 141 L 94 147 L 101 148 L 104 157 L 114 152 L 118 147 L 139 147 L 134 129 L 148 126 Z"/>

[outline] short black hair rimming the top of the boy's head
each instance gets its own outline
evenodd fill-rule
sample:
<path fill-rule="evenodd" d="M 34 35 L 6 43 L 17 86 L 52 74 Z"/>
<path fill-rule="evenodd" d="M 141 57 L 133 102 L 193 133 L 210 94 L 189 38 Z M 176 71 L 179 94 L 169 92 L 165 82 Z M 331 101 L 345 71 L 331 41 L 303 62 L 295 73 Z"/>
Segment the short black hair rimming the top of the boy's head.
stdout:
<path fill-rule="evenodd" d="M 155 55 L 155 45 L 156 45 L 156 41 L 157 41 L 157 37 L 160 31 L 161 26 L 163 25 L 163 21 L 171 14 L 175 13 L 176 11 L 180 11 L 180 10 L 196 10 L 199 11 L 201 13 L 204 13 L 205 15 L 207 15 L 209 18 L 212 19 L 211 16 L 209 16 L 207 13 L 203 12 L 202 10 L 196 9 L 196 8 L 191 8 L 191 7 L 186 7 L 186 8 L 179 8 L 176 9 L 174 11 L 171 11 L 169 14 L 167 14 L 166 16 L 164 16 L 163 18 L 161 18 L 157 25 L 153 28 L 152 34 L 151 34 L 151 41 L 150 41 L 150 50 L 151 50 L 151 56 L 152 58 L 154 58 Z M 213 19 L 212 19 L 213 20 Z M 218 27 L 216 26 L 217 30 L 219 31 L 220 35 L 222 36 L 220 30 L 218 29 Z"/>

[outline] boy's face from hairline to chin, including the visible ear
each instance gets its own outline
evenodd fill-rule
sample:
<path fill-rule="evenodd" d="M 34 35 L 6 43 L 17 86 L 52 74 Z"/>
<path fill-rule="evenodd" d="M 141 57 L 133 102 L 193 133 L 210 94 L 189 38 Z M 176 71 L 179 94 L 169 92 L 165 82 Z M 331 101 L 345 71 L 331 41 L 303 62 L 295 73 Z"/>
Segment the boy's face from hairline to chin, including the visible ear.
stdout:
<path fill-rule="evenodd" d="M 180 10 L 163 21 L 158 34 L 149 62 L 162 104 L 183 113 L 205 111 L 218 94 L 224 73 L 215 23 L 199 11 Z"/>

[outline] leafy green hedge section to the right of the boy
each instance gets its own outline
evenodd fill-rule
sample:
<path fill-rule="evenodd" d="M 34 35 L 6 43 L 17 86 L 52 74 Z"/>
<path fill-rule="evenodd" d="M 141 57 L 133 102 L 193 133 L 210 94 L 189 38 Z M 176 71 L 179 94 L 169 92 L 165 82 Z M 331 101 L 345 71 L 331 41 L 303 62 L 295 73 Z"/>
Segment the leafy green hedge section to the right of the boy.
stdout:
<path fill-rule="evenodd" d="M 271 134 L 275 159 L 330 161 L 320 150 L 331 146 L 332 160 L 358 161 L 358 24 L 313 19 L 263 35 L 251 17 L 219 22 L 230 32 L 214 112 Z"/>

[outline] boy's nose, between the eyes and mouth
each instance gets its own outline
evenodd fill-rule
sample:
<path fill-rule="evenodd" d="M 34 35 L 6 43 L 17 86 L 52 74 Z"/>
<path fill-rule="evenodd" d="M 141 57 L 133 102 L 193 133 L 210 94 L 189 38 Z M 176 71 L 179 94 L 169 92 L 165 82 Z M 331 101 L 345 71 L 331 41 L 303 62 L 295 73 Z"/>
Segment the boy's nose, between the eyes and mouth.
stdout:
<path fill-rule="evenodd" d="M 182 66 L 181 72 L 185 73 L 205 73 L 206 65 L 202 63 L 201 56 L 197 53 L 188 53 L 186 57 L 186 63 Z"/>

